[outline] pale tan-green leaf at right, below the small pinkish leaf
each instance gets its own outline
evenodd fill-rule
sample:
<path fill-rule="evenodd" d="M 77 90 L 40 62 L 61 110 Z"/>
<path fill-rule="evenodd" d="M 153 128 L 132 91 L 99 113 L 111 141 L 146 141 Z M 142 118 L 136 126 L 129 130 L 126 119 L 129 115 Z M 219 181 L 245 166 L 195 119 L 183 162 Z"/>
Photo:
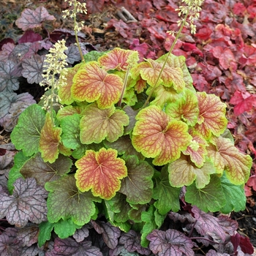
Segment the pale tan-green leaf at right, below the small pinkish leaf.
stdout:
<path fill-rule="evenodd" d="M 203 167 L 196 167 L 189 157 L 182 155 L 168 166 L 170 185 L 173 187 L 189 186 L 195 181 L 197 189 L 202 189 L 210 181 L 210 175 L 216 173 L 211 162 L 205 162 Z"/>

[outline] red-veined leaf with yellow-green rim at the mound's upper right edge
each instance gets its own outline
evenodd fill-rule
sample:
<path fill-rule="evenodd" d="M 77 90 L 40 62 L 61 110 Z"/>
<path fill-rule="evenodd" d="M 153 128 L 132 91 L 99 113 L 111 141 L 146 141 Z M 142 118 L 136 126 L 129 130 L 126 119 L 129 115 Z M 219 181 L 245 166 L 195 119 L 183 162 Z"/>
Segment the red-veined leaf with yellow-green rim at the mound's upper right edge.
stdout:
<path fill-rule="evenodd" d="M 206 92 L 197 92 L 199 116 L 195 129 L 203 138 L 221 135 L 227 127 L 226 105 L 219 97 Z"/>

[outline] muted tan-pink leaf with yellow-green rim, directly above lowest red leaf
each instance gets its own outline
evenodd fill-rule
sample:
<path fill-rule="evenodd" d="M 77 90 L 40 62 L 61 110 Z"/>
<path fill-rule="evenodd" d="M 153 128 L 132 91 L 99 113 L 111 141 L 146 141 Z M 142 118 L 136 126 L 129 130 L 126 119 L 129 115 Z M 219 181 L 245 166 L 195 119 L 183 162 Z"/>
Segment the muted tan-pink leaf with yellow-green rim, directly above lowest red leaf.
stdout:
<path fill-rule="evenodd" d="M 86 106 L 80 121 L 80 141 L 84 144 L 100 143 L 105 138 L 113 142 L 124 134 L 124 126 L 129 124 L 129 117 L 123 110 L 114 106 L 100 109 L 93 103 Z"/>

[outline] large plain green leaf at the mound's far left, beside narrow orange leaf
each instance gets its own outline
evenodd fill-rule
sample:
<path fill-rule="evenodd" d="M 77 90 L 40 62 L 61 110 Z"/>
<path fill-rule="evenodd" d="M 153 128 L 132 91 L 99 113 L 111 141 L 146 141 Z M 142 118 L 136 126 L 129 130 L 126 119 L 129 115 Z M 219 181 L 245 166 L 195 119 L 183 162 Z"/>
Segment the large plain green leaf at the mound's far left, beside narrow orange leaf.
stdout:
<path fill-rule="evenodd" d="M 11 140 L 26 157 L 38 152 L 39 138 L 45 124 L 45 110 L 39 105 L 30 105 L 20 114 L 18 124 L 12 131 Z"/>

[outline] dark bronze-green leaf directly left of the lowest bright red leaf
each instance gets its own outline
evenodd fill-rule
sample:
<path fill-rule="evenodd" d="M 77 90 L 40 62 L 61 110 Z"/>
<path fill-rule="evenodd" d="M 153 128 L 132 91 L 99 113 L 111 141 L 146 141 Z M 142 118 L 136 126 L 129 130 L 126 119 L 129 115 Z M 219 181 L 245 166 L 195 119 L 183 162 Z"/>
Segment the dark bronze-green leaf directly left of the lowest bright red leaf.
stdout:
<path fill-rule="evenodd" d="M 47 181 L 55 181 L 69 173 L 71 166 L 72 160 L 61 154 L 50 164 L 42 159 L 40 153 L 37 153 L 20 168 L 20 173 L 24 178 L 35 178 L 37 184 L 45 186 Z"/>

